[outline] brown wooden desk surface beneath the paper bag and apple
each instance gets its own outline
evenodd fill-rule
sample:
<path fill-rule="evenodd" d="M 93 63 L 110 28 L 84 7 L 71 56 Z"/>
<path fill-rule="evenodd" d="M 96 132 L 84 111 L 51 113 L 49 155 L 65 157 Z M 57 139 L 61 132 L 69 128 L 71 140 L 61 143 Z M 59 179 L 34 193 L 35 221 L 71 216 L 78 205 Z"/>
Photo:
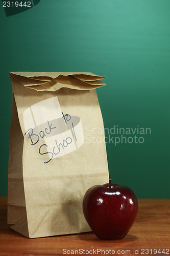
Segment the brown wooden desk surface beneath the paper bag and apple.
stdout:
<path fill-rule="evenodd" d="M 169 255 L 170 200 L 139 199 L 138 203 L 136 221 L 122 240 L 99 240 L 92 232 L 29 239 L 7 227 L 7 198 L 0 197 L 0 255 Z"/>

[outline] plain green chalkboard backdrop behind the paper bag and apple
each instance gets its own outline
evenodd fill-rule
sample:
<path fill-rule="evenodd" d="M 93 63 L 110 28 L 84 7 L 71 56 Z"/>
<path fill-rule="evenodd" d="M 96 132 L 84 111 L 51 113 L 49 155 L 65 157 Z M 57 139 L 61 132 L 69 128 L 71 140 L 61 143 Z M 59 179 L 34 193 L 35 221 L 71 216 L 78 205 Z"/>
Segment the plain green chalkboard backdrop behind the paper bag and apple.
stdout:
<path fill-rule="evenodd" d="M 97 90 L 105 127 L 151 129 L 136 134 L 143 143 L 107 139 L 110 177 L 139 198 L 169 198 L 170 1 L 41 0 L 8 17 L 1 3 L 0 14 L 0 195 L 7 195 L 8 72 L 79 71 L 107 76 Z"/>

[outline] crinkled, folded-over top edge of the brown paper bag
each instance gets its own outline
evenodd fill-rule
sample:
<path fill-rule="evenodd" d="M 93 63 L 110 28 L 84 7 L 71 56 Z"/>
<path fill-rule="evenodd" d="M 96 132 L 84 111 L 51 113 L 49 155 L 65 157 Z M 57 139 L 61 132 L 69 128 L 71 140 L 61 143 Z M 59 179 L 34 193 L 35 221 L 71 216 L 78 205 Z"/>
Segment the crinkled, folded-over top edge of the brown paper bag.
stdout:
<path fill-rule="evenodd" d="M 54 92 L 63 87 L 77 90 L 95 89 L 106 84 L 92 73 L 79 72 L 10 72 L 23 86 L 36 91 Z"/>

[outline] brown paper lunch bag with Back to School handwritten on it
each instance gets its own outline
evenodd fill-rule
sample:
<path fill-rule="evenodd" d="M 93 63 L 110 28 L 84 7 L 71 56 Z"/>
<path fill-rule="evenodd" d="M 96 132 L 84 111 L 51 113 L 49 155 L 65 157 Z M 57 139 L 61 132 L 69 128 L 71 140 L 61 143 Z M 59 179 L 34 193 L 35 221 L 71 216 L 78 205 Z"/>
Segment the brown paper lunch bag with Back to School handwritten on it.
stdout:
<path fill-rule="evenodd" d="M 10 72 L 8 224 L 28 238 L 90 231 L 83 196 L 109 178 L 95 91 L 102 78 Z"/>

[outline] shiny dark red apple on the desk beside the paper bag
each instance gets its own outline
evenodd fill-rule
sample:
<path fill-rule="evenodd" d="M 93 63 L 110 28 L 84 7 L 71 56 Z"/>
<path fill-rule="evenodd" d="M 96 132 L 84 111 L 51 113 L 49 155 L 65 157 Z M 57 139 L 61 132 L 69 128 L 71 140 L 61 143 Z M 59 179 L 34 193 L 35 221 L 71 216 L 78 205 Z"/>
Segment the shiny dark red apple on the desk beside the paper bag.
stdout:
<path fill-rule="evenodd" d="M 138 203 L 129 187 L 111 184 L 89 188 L 83 199 L 83 213 L 92 231 L 103 240 L 124 238 L 137 215 Z"/>

